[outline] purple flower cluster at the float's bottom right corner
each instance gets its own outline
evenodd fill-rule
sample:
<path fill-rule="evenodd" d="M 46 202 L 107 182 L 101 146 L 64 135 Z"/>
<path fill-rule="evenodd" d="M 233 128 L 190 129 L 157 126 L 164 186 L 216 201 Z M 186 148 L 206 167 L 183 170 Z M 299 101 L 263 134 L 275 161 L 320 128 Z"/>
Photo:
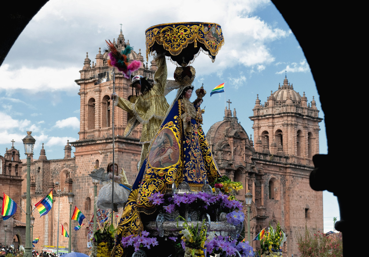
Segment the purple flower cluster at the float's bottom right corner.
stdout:
<path fill-rule="evenodd" d="M 231 240 L 230 237 L 217 236 L 214 232 L 210 232 L 207 237 L 206 251 L 211 255 L 235 256 L 238 251 L 242 257 L 254 256 L 254 250 L 248 241 L 237 244 L 237 239 Z"/>

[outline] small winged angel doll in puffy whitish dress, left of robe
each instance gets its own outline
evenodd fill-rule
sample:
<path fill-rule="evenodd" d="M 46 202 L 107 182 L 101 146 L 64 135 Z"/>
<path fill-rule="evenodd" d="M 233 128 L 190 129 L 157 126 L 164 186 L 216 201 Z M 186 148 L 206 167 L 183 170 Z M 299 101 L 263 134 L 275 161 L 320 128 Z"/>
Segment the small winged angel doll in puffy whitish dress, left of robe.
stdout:
<path fill-rule="evenodd" d="M 111 208 L 111 195 L 113 193 L 113 182 L 112 177 L 113 174 L 117 174 L 118 165 L 114 163 L 114 171 L 113 171 L 113 162 L 110 162 L 106 168 L 107 172 L 109 172 L 110 181 L 103 182 L 103 187 L 101 187 L 99 191 L 99 196 L 97 197 L 96 207 L 100 209 L 110 209 Z M 128 200 L 128 195 L 131 192 L 131 185 L 128 184 L 127 177 L 125 176 L 125 171 L 121 169 L 120 175 L 114 175 L 114 211 L 118 212 L 118 208 L 124 207 Z"/>

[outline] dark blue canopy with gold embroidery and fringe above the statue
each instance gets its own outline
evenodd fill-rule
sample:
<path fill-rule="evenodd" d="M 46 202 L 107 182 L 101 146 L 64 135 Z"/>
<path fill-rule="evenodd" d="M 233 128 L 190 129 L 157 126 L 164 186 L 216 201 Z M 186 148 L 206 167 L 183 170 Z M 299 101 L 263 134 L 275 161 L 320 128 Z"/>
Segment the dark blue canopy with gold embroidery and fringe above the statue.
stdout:
<path fill-rule="evenodd" d="M 172 56 L 177 56 L 190 43 L 202 43 L 206 52 L 213 59 L 224 44 L 222 29 L 219 24 L 207 22 L 177 22 L 159 24 L 146 29 L 146 60 L 154 43 L 162 45 Z"/>

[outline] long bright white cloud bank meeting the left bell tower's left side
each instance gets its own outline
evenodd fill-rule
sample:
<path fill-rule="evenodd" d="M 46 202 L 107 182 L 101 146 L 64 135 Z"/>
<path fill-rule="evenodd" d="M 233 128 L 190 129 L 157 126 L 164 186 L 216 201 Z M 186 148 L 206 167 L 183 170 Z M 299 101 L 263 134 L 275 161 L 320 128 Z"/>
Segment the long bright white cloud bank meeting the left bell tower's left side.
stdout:
<path fill-rule="evenodd" d="M 30 90 L 32 93 L 77 91 L 79 86 L 74 80 L 79 77 L 79 69 L 79 67 L 20 67 L 12 69 L 9 64 L 3 64 L 0 67 L 0 77 L 2 78 L 0 89 L 13 92 L 16 89 Z M 24 78 L 27 78 L 27 83 L 24 82 Z"/>

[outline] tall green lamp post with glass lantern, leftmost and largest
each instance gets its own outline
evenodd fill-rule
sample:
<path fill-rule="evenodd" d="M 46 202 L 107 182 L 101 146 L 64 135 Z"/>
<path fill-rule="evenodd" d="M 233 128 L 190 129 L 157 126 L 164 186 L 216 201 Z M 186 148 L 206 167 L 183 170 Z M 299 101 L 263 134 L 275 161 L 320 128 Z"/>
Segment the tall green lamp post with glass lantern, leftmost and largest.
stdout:
<path fill-rule="evenodd" d="M 24 257 L 32 256 L 31 245 L 31 156 L 33 154 L 33 147 L 35 145 L 35 138 L 31 136 L 32 131 L 27 131 L 27 135 L 22 139 L 24 145 L 24 152 L 27 155 L 27 200 L 26 200 L 26 214 L 25 214 L 25 251 Z"/>

